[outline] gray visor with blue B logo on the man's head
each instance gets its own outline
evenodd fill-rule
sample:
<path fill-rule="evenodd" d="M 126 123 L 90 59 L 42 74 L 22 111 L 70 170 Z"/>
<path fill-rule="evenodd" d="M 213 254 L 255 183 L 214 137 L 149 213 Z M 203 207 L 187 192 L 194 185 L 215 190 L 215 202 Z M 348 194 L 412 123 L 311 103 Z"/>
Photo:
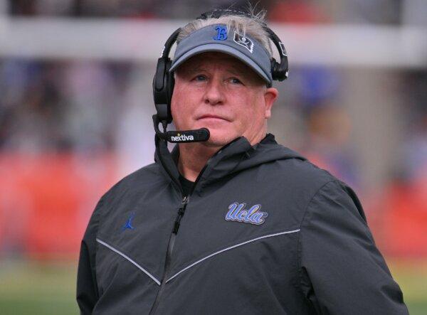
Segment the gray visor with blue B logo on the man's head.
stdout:
<path fill-rule="evenodd" d="M 209 51 L 232 55 L 251 67 L 269 86 L 273 82 L 268 51 L 251 36 L 228 30 L 224 24 L 205 26 L 183 38 L 176 46 L 170 71 L 176 70 L 192 56 Z"/>

